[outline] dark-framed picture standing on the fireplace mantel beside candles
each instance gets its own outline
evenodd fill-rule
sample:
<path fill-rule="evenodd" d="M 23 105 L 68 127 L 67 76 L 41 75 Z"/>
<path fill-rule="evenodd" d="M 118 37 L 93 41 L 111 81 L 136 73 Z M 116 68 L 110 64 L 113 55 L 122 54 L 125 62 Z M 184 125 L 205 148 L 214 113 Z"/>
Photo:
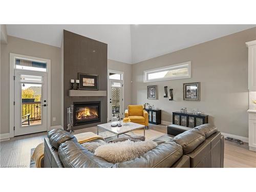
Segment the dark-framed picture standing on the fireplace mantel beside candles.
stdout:
<path fill-rule="evenodd" d="M 78 73 L 79 90 L 98 91 L 98 75 Z"/>

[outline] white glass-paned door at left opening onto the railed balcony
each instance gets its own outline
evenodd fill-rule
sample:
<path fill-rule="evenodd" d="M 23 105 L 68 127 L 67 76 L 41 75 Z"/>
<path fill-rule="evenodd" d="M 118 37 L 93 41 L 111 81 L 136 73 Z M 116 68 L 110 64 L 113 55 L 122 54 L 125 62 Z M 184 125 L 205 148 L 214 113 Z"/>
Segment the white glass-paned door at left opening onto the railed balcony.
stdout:
<path fill-rule="evenodd" d="M 47 73 L 14 73 L 14 136 L 47 131 Z"/>

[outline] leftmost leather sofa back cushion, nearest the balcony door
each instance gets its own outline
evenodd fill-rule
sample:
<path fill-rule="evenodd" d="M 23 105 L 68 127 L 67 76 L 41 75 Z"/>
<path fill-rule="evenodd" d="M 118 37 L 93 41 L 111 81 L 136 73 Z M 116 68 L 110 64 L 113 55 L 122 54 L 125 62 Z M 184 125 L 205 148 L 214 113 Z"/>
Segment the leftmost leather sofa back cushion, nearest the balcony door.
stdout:
<path fill-rule="evenodd" d="M 48 132 L 47 136 L 49 138 L 51 145 L 56 149 L 59 148 L 59 145 L 61 143 L 65 143 L 68 140 L 77 142 L 77 139 L 75 138 L 74 135 L 71 135 L 70 133 L 61 129 L 51 130 Z"/>

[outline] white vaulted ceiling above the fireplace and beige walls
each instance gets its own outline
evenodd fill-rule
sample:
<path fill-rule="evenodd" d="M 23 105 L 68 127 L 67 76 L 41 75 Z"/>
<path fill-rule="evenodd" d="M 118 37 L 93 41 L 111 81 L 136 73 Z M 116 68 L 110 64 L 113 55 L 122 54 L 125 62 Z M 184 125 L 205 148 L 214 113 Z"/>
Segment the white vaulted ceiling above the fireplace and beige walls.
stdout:
<path fill-rule="evenodd" d="M 60 47 L 63 29 L 108 44 L 108 58 L 137 63 L 256 25 L 7 25 L 8 35 Z"/>

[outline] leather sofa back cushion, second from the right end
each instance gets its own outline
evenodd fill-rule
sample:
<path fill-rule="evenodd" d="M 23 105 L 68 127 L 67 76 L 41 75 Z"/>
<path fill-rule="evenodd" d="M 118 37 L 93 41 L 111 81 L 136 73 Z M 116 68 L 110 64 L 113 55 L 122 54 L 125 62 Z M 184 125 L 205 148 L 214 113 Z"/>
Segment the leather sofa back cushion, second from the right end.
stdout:
<path fill-rule="evenodd" d="M 191 153 L 205 140 L 205 135 L 202 131 L 192 129 L 183 132 L 174 137 L 173 141 L 183 147 L 183 154 Z"/>

